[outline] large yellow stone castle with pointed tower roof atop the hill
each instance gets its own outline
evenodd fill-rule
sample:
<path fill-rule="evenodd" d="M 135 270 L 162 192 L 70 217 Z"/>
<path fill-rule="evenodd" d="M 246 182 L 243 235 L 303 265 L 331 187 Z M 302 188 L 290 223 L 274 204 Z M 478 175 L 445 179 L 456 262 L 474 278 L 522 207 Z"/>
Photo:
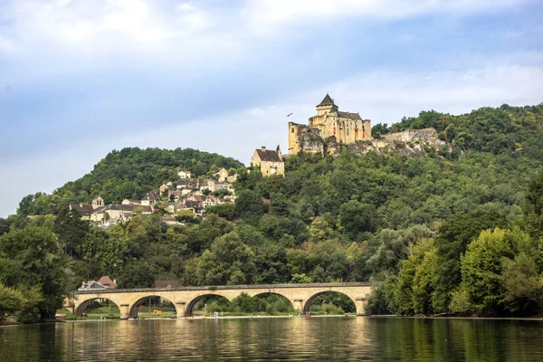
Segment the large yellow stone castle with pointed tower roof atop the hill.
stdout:
<path fill-rule="evenodd" d="M 371 121 L 362 119 L 358 113 L 340 111 L 327 93 L 317 106 L 317 116 L 309 119 L 308 126 L 289 122 L 289 154 L 295 155 L 302 150 L 321 152 L 321 149 L 304 146 L 331 137 L 344 144 L 371 141 Z"/>

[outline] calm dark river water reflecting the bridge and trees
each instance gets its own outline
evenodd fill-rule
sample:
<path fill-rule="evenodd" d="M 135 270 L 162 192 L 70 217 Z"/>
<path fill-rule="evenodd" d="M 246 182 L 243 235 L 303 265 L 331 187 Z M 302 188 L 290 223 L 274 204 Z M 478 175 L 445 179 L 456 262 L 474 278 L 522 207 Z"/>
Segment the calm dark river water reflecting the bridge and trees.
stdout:
<path fill-rule="evenodd" d="M 0 361 L 543 361 L 543 322 L 291 318 L 0 328 Z"/>

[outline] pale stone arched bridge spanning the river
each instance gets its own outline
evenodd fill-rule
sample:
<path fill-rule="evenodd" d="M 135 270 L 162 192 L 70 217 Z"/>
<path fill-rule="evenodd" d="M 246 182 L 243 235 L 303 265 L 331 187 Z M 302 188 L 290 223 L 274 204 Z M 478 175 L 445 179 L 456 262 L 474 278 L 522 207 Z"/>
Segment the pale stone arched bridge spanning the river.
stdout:
<path fill-rule="evenodd" d="M 198 300 L 217 295 L 233 300 L 242 293 L 251 297 L 261 294 L 279 294 L 291 301 L 297 312 L 310 310 L 311 301 L 327 291 L 345 294 L 353 300 L 357 316 L 366 314 L 367 295 L 371 283 L 311 283 L 311 284 L 265 284 L 265 285 L 225 285 L 212 287 L 182 287 L 176 289 L 113 289 L 101 291 L 76 291 L 73 297 L 73 312 L 81 316 L 92 300 L 111 300 L 120 310 L 120 319 L 138 317 L 138 308 L 149 297 L 160 297 L 171 301 L 176 307 L 178 318 L 190 316 Z"/>

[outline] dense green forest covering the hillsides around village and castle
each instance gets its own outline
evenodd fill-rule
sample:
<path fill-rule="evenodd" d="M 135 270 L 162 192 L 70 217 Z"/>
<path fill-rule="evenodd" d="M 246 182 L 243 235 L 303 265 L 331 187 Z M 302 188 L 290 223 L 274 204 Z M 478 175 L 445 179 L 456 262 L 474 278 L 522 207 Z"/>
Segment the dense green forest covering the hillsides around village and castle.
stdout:
<path fill-rule="evenodd" d="M 89 175 L 25 197 L 0 220 L 8 295 L 0 312 L 18 305 L 24 320 L 51 316 L 63 293 L 110 275 L 121 287 L 372 281 L 373 313 L 541 314 L 543 105 L 422 112 L 372 131 L 428 127 L 445 141 L 443 152 L 301 153 L 286 157 L 284 177 L 195 150 L 112 152 Z M 185 225 L 135 216 L 108 230 L 64 207 L 98 193 L 140 196 L 178 166 L 198 175 L 234 168 L 235 205 L 209 207 Z"/>

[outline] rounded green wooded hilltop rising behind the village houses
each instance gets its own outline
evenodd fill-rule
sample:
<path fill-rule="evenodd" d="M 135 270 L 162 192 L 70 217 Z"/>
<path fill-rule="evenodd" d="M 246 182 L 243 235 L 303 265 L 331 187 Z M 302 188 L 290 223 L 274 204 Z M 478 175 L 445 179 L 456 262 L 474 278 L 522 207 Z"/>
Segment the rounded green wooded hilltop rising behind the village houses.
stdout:
<path fill-rule="evenodd" d="M 90 204 L 100 195 L 106 204 L 125 198 L 140 199 L 176 179 L 177 167 L 205 176 L 219 167 L 243 167 L 232 157 L 202 152 L 191 148 L 123 148 L 111 151 L 87 175 L 66 183 L 52 195 L 37 193 L 24 197 L 18 214 L 58 214 L 69 203 Z"/>

